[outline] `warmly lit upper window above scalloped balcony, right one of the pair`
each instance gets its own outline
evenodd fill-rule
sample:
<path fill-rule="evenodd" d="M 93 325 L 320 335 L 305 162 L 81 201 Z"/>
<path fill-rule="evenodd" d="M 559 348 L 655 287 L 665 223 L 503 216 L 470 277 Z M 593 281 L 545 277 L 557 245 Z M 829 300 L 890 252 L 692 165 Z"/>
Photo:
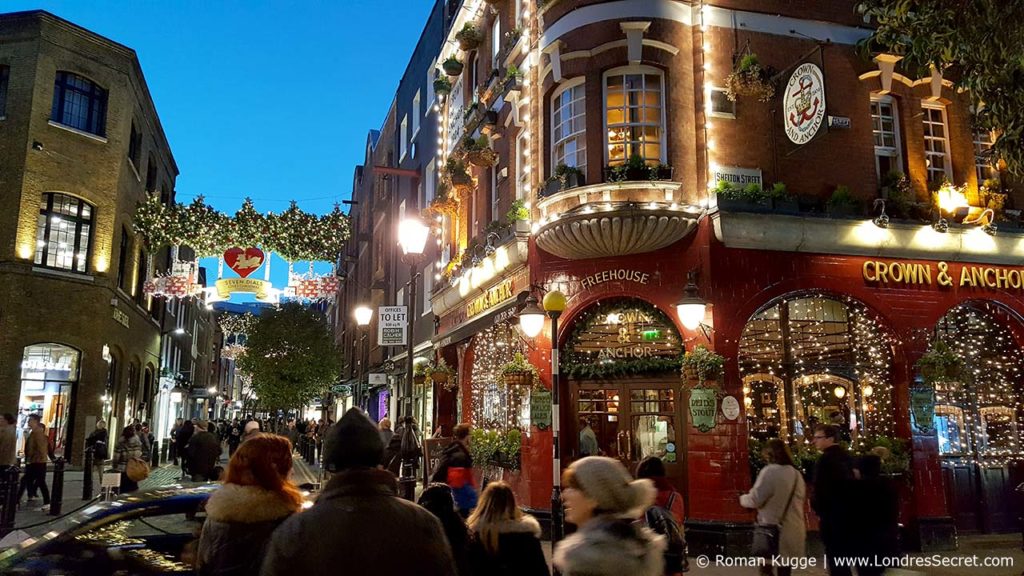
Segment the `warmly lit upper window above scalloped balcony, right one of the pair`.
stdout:
<path fill-rule="evenodd" d="M 656 164 L 665 158 L 665 92 L 662 72 L 616 69 L 604 77 L 604 124 L 609 165 L 634 156 Z"/>

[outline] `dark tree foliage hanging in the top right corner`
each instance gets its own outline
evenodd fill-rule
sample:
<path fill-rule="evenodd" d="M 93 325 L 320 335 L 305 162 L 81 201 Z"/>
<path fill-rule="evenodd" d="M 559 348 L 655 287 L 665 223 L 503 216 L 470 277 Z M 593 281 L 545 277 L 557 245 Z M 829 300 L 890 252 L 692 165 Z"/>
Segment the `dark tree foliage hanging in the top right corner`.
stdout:
<path fill-rule="evenodd" d="M 970 92 L 976 122 L 997 133 L 992 148 L 1014 174 L 1024 173 L 1024 3 L 1007 0 L 864 0 L 861 13 L 878 28 L 864 46 L 931 68 Z"/>

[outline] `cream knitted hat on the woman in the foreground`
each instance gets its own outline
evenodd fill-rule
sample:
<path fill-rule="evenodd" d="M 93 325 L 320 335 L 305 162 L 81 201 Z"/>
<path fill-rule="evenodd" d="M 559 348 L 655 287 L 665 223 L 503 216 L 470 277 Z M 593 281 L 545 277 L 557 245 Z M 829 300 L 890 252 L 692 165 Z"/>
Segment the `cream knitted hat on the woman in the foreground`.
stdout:
<path fill-rule="evenodd" d="M 637 518 L 654 502 L 657 490 L 649 480 L 633 480 L 622 462 L 588 456 L 569 465 L 572 479 L 600 512 Z"/>

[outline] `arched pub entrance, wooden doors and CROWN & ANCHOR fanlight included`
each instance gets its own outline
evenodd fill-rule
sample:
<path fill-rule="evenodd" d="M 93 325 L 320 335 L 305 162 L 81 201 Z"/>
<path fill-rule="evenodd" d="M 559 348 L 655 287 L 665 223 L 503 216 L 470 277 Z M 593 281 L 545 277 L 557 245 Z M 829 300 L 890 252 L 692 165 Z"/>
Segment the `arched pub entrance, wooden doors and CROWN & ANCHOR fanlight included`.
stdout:
<path fill-rule="evenodd" d="M 559 366 L 568 379 L 571 417 L 563 457 L 593 455 L 584 453 L 590 433 L 584 433 L 588 440 L 581 438 L 589 424 L 601 455 L 630 469 L 645 457 L 662 458 L 682 489 L 682 354 L 675 324 L 644 300 L 602 300 L 584 311 L 562 346 Z"/>

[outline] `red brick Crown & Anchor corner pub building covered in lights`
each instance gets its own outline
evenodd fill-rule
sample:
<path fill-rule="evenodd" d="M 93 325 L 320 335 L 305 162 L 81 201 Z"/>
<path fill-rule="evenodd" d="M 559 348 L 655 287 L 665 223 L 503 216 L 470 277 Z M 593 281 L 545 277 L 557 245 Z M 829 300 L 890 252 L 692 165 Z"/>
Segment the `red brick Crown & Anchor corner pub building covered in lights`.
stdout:
<path fill-rule="evenodd" d="M 991 135 L 967 94 L 858 51 L 855 5 L 450 3 L 424 178 L 435 358 L 456 376 L 433 421 L 516 430 L 483 474 L 521 504 L 550 509 L 552 434 L 543 393 L 502 372 L 521 353 L 550 388 L 549 328 L 525 337 L 515 314 L 560 290 L 561 462 L 583 420 L 631 466 L 663 458 L 691 549 L 743 549 L 752 453 L 781 436 L 810 461 L 829 419 L 891 448 L 911 545 L 1013 528 L 1024 197 L 976 154 Z M 938 340 L 963 368 L 945 378 L 915 367 Z M 697 344 L 725 357 L 719 380 L 682 378 Z"/>

